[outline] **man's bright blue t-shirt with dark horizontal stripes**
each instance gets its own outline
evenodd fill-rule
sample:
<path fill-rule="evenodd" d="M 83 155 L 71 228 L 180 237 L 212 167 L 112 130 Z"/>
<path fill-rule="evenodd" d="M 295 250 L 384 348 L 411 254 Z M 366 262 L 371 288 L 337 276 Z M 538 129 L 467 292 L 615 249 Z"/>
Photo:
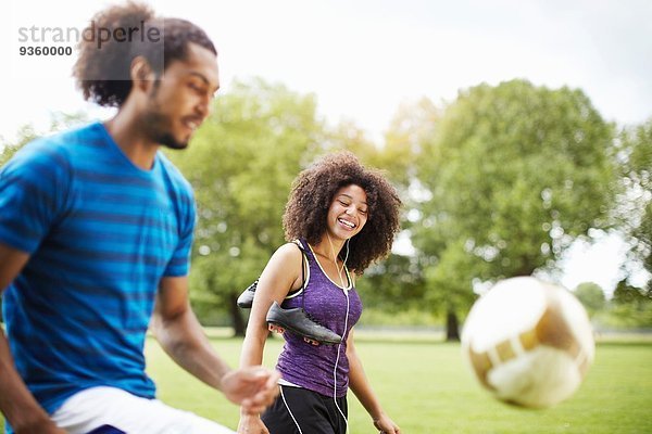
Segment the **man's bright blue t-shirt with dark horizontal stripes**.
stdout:
<path fill-rule="evenodd" d="M 36 140 L 0 171 L 0 242 L 30 254 L 3 294 L 16 368 L 48 411 L 109 385 L 152 398 L 143 345 L 162 277 L 186 276 L 189 183 L 135 166 L 102 124 Z"/>

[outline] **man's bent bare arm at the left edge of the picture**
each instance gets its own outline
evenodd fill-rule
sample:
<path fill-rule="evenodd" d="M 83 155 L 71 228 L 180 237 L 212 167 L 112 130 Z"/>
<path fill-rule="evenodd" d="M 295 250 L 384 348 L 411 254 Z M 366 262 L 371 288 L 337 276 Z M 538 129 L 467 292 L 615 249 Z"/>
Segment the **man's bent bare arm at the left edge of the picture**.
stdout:
<path fill-rule="evenodd" d="M 0 243 L 0 293 L 18 276 L 29 255 Z M 36 401 L 16 371 L 9 341 L 0 329 L 0 411 L 16 434 L 65 433 Z"/>

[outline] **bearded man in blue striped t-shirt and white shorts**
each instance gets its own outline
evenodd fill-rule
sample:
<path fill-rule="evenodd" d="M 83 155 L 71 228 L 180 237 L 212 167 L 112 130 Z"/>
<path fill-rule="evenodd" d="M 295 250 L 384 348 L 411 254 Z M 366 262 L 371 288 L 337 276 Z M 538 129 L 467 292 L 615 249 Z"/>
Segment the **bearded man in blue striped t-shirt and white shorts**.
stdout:
<path fill-rule="evenodd" d="M 208 116 L 216 50 L 193 24 L 135 3 L 89 28 L 98 38 L 80 41 L 74 76 L 117 114 L 36 140 L 0 171 L 0 410 L 16 433 L 230 433 L 154 399 L 142 353 L 151 327 L 179 366 L 252 413 L 277 394 L 277 372 L 230 370 L 190 309 L 193 196 L 159 151 L 186 148 Z"/>

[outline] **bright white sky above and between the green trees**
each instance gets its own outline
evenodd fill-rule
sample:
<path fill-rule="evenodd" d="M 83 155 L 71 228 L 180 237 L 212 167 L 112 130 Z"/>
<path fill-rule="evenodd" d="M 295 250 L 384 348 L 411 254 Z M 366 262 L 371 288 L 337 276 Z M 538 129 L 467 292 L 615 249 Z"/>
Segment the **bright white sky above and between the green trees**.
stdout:
<path fill-rule="evenodd" d="M 112 1 L 10 0 L 0 5 L 0 136 L 18 126 L 46 129 L 53 113 L 111 111 L 83 101 L 71 78 L 75 55 L 21 56 L 43 43 L 39 30 L 77 28 Z M 403 103 L 455 99 L 461 89 L 525 78 L 581 89 L 606 120 L 652 117 L 652 1 L 649 0 L 184 0 L 150 1 L 165 16 L 203 27 L 218 50 L 221 81 L 262 77 L 315 93 L 329 123 L 354 122 L 381 142 Z M 21 40 L 21 28 L 36 28 Z M 53 31 L 53 30 L 50 30 Z M 24 35 L 24 33 L 23 33 Z M 51 42 L 52 33 L 47 42 Z M 74 48 L 75 41 L 58 46 Z M 612 288 L 619 252 L 590 266 L 595 248 L 578 245 L 565 284 Z M 600 257 L 604 255 L 599 255 Z M 609 255 L 607 255 L 609 256 Z M 590 257 L 590 259 L 586 259 Z M 580 259 L 577 259 L 580 258 Z M 569 259 L 570 261 L 570 259 Z M 610 270 L 606 272 L 605 270 Z M 612 276 L 600 276 L 609 275 Z M 589 279 L 594 278 L 594 279 Z M 611 280 L 610 280 L 611 279 Z M 579 281 L 578 281 L 579 280 Z"/>

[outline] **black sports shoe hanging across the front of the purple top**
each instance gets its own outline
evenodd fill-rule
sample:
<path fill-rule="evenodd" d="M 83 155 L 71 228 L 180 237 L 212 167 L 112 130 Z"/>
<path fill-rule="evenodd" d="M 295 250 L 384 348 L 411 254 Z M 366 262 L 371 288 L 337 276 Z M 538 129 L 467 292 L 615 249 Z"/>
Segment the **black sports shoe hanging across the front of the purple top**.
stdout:
<path fill-rule="evenodd" d="M 313 345 L 326 344 L 335 345 L 342 341 L 342 337 L 325 328 L 317 324 L 309 318 L 305 310 L 301 307 L 292 309 L 284 309 L 274 302 L 267 311 L 267 324 L 269 330 L 277 333 L 284 333 L 286 330 L 293 332 L 303 340 Z"/>

